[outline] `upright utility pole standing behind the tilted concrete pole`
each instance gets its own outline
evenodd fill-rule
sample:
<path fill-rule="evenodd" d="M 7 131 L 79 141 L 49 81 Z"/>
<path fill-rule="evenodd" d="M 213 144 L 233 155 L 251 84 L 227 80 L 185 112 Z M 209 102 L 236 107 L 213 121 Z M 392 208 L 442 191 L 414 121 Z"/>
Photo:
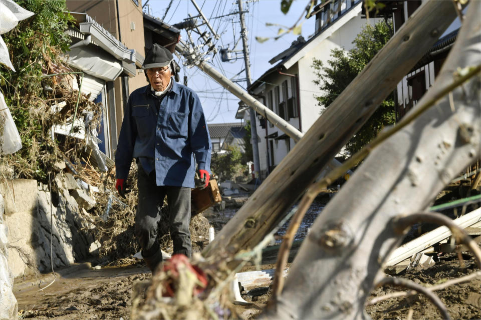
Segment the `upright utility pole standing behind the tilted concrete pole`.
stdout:
<path fill-rule="evenodd" d="M 249 62 L 249 47 L 247 43 L 246 23 L 244 22 L 244 11 L 242 10 L 242 0 L 237 0 L 239 4 L 240 17 L 240 35 L 242 36 L 242 44 L 244 50 L 244 64 L 246 65 L 246 81 L 247 87 L 251 86 L 251 64 Z M 261 164 L 259 161 L 259 143 L 257 138 L 257 124 L 256 124 L 256 110 L 251 107 L 249 110 L 251 114 L 251 138 L 252 138 L 252 156 L 254 158 L 254 176 L 259 178 Z"/>

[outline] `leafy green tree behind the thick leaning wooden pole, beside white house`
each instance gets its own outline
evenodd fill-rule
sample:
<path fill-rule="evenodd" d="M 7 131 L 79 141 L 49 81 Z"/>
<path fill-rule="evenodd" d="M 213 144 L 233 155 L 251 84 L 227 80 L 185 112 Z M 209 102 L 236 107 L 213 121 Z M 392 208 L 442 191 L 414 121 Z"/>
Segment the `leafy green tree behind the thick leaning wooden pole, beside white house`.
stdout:
<path fill-rule="evenodd" d="M 327 65 L 314 58 L 312 66 L 322 94 L 316 96 L 318 104 L 328 107 L 349 83 L 362 71 L 392 35 L 392 23 L 385 21 L 374 25 L 366 24 L 356 36 L 354 47 L 349 51 L 333 49 Z M 347 142 L 346 148 L 354 153 L 371 141 L 386 125 L 395 121 L 394 98 L 391 93 L 371 115 L 359 131 Z"/>

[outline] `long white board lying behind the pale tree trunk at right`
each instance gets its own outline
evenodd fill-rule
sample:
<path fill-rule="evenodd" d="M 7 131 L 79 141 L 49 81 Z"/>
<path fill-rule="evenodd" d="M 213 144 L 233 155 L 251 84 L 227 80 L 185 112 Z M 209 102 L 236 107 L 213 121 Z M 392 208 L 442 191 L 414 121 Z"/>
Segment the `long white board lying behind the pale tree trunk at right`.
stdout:
<path fill-rule="evenodd" d="M 454 222 L 462 228 L 469 227 L 477 222 L 481 222 L 481 208 L 477 208 L 463 216 L 454 219 Z M 431 245 L 445 239 L 451 235 L 451 230 L 447 226 L 440 226 L 432 231 L 404 243 L 395 249 L 386 261 L 386 265 L 394 265 L 412 256 L 414 253 L 420 252 Z"/>

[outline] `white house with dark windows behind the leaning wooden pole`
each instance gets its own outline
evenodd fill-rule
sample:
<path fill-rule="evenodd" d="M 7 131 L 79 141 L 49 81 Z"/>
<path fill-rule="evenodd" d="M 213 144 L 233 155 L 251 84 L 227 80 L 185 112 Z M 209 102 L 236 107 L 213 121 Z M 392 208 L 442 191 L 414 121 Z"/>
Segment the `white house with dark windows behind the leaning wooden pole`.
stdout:
<path fill-rule="evenodd" d="M 332 49 L 351 49 L 361 28 L 378 21 L 362 18 L 361 14 L 361 0 L 328 0 L 317 5 L 311 14 L 316 17 L 314 36 L 307 41 L 300 36 L 291 47 L 272 58 L 269 62 L 275 65 L 255 80 L 248 91 L 294 127 L 306 132 L 321 113 L 315 98 L 320 91 L 313 82 L 317 78 L 311 66 L 313 59 L 327 62 Z M 243 116 L 249 119 L 248 112 Z M 266 123 L 260 115 L 257 118 L 263 178 L 287 155 L 294 140 Z"/>

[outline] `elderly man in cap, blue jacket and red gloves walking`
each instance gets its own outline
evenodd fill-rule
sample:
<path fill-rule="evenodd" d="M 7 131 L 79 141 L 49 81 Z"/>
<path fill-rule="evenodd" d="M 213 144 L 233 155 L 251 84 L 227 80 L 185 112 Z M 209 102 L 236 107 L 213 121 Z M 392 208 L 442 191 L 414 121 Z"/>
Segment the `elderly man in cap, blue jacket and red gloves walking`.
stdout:
<path fill-rule="evenodd" d="M 210 177 L 210 136 L 200 99 L 172 78 L 172 60 L 172 53 L 158 44 L 147 53 L 142 69 L 149 84 L 130 94 L 115 154 L 115 187 L 123 197 L 129 192 L 126 179 L 133 158 L 138 165 L 135 233 L 152 272 L 162 262 L 157 224 L 165 195 L 170 217 L 161 223 L 169 223 L 174 254 L 190 257 L 195 162 L 204 186 Z"/>

